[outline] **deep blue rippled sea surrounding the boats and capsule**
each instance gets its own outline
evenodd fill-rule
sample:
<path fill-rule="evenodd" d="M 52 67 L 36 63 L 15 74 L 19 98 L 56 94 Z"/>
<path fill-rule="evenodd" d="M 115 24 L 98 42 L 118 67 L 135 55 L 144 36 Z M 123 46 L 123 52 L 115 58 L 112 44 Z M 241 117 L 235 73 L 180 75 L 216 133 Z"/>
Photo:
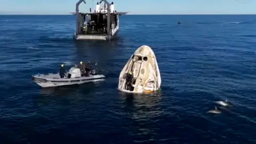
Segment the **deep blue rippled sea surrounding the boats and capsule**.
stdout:
<path fill-rule="evenodd" d="M 256 15 L 122 15 L 116 41 L 73 41 L 74 15 L 0 16 L 0 143 L 256 143 Z M 183 24 L 177 25 L 180 21 Z M 162 91 L 117 90 L 141 45 Z M 98 62 L 103 82 L 42 89 L 31 75 Z M 214 101 L 234 107 L 207 114 Z"/>

